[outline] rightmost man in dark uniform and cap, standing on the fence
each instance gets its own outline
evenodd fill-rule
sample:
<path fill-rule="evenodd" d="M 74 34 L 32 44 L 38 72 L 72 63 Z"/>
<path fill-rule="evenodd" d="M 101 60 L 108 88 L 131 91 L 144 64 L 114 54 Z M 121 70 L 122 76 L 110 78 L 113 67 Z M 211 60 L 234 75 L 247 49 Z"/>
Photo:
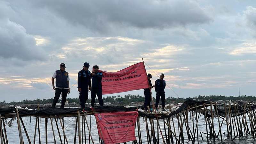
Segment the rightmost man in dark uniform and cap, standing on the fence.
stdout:
<path fill-rule="evenodd" d="M 164 106 L 165 106 L 164 88 L 165 88 L 166 84 L 165 84 L 165 80 L 163 80 L 163 79 L 164 79 L 164 74 L 161 74 L 160 79 L 157 79 L 156 83 L 155 83 L 155 90 L 156 90 L 156 104 L 155 104 L 155 106 L 156 106 L 156 110 L 158 110 L 157 107 L 158 107 L 158 103 L 159 103 L 160 97 L 161 97 L 163 111 L 165 111 L 165 109 L 164 109 Z"/>

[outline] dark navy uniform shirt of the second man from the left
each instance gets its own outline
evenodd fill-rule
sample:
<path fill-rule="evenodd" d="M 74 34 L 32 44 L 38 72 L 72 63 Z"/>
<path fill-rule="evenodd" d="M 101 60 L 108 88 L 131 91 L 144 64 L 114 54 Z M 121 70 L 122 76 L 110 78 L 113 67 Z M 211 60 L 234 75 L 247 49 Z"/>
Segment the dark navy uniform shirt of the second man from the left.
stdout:
<path fill-rule="evenodd" d="M 85 71 L 84 69 L 82 69 L 78 72 L 77 88 L 83 88 L 87 86 L 92 87 L 90 71 L 89 70 Z"/>

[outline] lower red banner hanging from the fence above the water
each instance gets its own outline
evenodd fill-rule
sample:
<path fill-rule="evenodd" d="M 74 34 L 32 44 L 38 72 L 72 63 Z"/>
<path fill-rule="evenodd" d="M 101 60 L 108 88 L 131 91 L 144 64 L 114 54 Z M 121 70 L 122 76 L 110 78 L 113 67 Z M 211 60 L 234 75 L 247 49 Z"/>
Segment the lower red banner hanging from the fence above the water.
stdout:
<path fill-rule="evenodd" d="M 100 139 L 104 144 L 136 140 L 135 124 L 138 115 L 137 111 L 95 114 Z"/>

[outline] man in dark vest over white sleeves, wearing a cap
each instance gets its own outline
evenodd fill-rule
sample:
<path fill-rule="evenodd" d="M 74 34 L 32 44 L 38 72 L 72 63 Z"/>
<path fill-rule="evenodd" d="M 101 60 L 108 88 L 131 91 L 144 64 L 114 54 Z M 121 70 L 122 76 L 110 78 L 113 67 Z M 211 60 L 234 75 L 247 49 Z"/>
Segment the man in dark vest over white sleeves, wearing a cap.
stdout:
<path fill-rule="evenodd" d="M 64 108 L 67 94 L 70 93 L 69 90 L 69 75 L 68 72 L 65 71 L 65 64 L 60 64 L 60 70 L 56 70 L 52 76 L 52 89 L 55 90 L 55 96 L 52 101 L 52 107 L 56 106 L 61 94 L 61 106 L 60 108 Z M 54 86 L 54 79 L 56 78 L 56 87 Z"/>

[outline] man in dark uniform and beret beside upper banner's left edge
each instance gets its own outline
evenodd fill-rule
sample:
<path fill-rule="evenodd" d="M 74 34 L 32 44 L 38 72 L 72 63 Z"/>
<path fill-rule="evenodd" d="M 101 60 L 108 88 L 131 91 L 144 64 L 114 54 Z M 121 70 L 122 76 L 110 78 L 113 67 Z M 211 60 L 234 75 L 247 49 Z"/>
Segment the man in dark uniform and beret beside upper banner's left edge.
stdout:
<path fill-rule="evenodd" d="M 101 80 L 102 80 L 102 72 L 99 71 L 99 66 L 95 65 L 92 67 L 93 68 L 93 73 L 91 73 L 92 76 L 92 91 L 91 91 L 91 98 L 92 102 L 91 105 L 94 107 L 95 103 L 95 98 L 96 94 L 98 96 L 99 104 L 100 106 L 103 106 L 103 100 L 102 100 L 102 85 L 101 85 Z"/>

